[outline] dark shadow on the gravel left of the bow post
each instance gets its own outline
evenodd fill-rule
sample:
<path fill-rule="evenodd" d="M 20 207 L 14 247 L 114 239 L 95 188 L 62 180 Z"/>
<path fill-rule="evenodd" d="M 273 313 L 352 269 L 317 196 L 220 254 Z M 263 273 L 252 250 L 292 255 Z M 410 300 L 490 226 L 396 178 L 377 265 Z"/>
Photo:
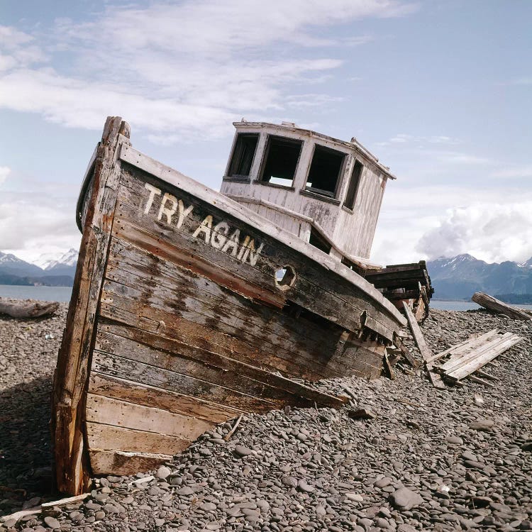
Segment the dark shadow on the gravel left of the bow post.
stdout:
<path fill-rule="evenodd" d="M 0 392 L 0 516 L 53 491 L 52 375 Z"/>

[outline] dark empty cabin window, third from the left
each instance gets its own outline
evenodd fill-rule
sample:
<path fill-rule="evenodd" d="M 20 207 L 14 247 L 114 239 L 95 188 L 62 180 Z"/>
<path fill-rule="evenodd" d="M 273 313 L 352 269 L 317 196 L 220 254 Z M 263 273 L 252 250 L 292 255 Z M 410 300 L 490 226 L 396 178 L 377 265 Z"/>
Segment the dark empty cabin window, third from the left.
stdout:
<path fill-rule="evenodd" d="M 345 153 L 316 144 L 305 188 L 316 194 L 336 197 L 344 160 Z"/>

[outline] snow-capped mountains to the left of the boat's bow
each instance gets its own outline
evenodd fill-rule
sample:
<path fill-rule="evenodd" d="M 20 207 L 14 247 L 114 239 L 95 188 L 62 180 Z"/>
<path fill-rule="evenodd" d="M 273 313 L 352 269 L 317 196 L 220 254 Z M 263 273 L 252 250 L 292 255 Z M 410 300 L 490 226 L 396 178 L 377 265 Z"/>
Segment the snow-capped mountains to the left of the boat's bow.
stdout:
<path fill-rule="evenodd" d="M 62 255 L 41 255 L 35 263 L 0 251 L 0 284 L 71 287 L 76 272 L 77 250 Z"/>

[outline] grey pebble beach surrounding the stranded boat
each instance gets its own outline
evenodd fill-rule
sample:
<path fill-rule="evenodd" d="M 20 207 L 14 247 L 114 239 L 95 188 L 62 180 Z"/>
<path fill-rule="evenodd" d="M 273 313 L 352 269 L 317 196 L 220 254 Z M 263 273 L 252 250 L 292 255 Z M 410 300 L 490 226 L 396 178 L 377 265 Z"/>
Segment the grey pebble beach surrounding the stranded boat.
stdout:
<path fill-rule="evenodd" d="M 61 497 L 48 421 L 66 312 L 0 316 L 0 516 Z M 422 331 L 436 353 L 495 327 L 523 341 L 486 367 L 493 388 L 439 390 L 421 370 L 321 382 L 356 399 L 244 416 L 228 440 L 225 423 L 158 470 L 95 479 L 84 501 L 0 531 L 531 530 L 531 322 L 432 310 Z"/>

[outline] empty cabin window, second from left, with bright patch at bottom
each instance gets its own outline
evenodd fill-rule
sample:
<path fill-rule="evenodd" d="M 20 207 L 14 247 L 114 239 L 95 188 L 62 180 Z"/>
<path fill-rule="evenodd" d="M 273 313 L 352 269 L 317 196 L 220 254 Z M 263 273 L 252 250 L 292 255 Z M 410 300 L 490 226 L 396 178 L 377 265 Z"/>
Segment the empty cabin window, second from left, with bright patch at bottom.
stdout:
<path fill-rule="evenodd" d="M 303 145 L 301 140 L 270 136 L 266 146 L 260 181 L 292 187 L 301 145 Z"/>

